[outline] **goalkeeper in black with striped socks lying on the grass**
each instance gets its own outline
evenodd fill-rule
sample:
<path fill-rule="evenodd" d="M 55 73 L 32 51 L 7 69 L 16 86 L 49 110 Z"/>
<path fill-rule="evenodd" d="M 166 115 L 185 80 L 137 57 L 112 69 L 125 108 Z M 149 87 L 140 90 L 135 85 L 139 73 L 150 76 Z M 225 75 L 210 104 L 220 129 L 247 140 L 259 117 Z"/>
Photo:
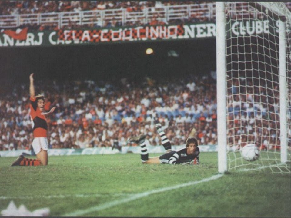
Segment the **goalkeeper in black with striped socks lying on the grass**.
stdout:
<path fill-rule="evenodd" d="M 160 123 L 156 124 L 156 128 L 158 130 L 159 136 L 162 139 L 162 145 L 164 146 L 166 153 L 159 157 L 149 157 L 145 142 L 146 135 L 139 135 L 129 138 L 129 142 L 135 142 L 140 145 L 142 163 L 199 164 L 200 151 L 198 148 L 198 141 L 194 137 L 196 132 L 195 129 L 192 129 L 189 137 L 186 140 L 186 148 L 182 148 L 178 151 L 172 151 L 171 143 L 161 127 L 162 125 Z"/>

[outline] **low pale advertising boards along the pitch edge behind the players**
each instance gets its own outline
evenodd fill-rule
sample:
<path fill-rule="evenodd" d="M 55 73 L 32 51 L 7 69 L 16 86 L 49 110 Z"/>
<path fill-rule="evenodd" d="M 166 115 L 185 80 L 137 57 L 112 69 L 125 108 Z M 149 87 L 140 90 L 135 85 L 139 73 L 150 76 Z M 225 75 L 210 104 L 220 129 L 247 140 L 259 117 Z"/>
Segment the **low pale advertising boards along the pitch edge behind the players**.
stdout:
<path fill-rule="evenodd" d="M 183 145 L 174 145 L 172 150 L 180 150 L 184 148 Z M 147 146 L 149 153 L 165 153 L 163 146 Z M 217 145 L 200 145 L 200 152 L 217 152 Z M 90 155 L 90 154 L 126 154 L 134 153 L 140 154 L 141 150 L 139 146 L 123 146 L 121 151 L 118 149 L 112 149 L 111 147 L 98 147 L 98 148 L 62 148 L 62 149 L 49 149 L 49 156 L 69 156 L 69 155 Z M 19 155 L 31 155 L 31 151 L 28 150 L 9 150 L 0 151 L 1 157 L 18 157 Z"/>

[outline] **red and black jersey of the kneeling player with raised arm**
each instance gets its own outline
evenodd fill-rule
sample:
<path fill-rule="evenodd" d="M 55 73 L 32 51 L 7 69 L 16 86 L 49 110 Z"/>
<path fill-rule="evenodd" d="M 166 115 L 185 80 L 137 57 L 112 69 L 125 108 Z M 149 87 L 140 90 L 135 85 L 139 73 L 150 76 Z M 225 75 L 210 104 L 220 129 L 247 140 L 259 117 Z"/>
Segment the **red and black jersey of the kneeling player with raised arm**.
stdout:
<path fill-rule="evenodd" d="M 45 119 L 45 115 L 37 107 L 35 98 L 30 97 L 30 117 L 33 121 L 33 136 L 34 137 L 47 137 L 48 124 Z"/>

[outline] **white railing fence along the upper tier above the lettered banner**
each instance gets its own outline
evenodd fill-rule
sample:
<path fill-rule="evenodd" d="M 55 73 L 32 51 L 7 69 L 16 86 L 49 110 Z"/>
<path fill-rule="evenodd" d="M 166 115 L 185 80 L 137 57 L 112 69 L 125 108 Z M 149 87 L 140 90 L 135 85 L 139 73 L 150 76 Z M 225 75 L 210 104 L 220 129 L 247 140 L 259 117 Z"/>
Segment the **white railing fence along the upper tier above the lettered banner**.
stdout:
<path fill-rule="evenodd" d="M 205 4 L 193 3 L 190 5 L 171 5 L 161 7 L 144 8 L 139 12 L 128 12 L 126 8 L 58 12 L 42 14 L 0 15 L 0 28 L 14 28 L 21 25 L 53 25 L 58 28 L 74 24 L 104 27 L 110 22 L 118 22 L 120 25 L 148 24 L 154 20 L 168 24 L 176 19 L 213 19 L 215 2 Z"/>

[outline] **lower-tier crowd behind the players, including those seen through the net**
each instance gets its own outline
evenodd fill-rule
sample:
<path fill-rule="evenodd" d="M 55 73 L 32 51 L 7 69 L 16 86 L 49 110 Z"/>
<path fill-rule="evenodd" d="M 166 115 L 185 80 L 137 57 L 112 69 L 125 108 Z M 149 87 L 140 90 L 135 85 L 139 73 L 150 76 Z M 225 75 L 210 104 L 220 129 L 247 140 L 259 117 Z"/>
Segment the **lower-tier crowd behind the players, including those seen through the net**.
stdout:
<path fill-rule="evenodd" d="M 28 90 L 28 84 L 21 84 L 0 98 L 0 150 L 31 147 Z M 200 145 L 217 144 L 216 84 L 210 75 L 176 81 L 146 78 L 140 86 L 126 78 L 98 84 L 38 81 L 36 90 L 45 95 L 47 110 L 57 107 L 47 118 L 51 148 L 112 147 L 114 140 L 132 146 L 127 139 L 140 134 L 147 135 L 147 143 L 161 145 L 155 120 L 173 145 L 184 144 L 193 127 Z M 279 145 L 278 92 L 269 104 L 259 104 L 258 98 L 266 98 L 266 88 L 249 84 L 242 94 L 230 90 L 229 145 L 247 141 L 256 141 L 263 149 Z"/>

